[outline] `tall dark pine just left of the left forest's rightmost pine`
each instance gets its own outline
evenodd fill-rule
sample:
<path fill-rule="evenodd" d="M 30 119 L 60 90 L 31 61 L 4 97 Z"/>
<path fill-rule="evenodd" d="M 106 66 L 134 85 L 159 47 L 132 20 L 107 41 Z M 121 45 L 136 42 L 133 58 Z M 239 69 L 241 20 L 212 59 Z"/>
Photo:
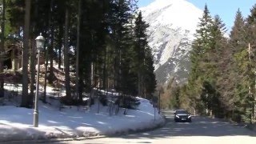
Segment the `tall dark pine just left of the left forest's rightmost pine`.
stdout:
<path fill-rule="evenodd" d="M 126 90 L 129 74 L 127 70 L 130 67 L 129 52 L 132 45 L 132 11 L 129 6 L 130 1 L 127 0 L 113 1 L 110 5 L 110 38 L 114 41 L 114 88 L 117 90 Z"/>

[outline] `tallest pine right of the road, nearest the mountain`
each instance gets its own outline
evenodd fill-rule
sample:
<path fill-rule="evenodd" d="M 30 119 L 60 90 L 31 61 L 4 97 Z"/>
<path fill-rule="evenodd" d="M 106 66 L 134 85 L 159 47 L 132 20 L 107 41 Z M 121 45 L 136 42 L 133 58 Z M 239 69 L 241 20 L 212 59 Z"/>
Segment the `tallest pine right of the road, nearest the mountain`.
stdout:
<path fill-rule="evenodd" d="M 191 70 L 190 78 L 188 83 L 188 90 L 190 90 L 191 100 L 195 102 L 190 102 L 194 104 L 194 107 L 198 107 L 198 110 L 202 110 L 202 107 L 207 108 L 206 104 L 203 104 L 200 101 L 202 97 L 202 87 L 204 76 L 204 62 L 203 58 L 207 58 L 207 50 L 210 50 L 210 38 L 211 37 L 211 28 L 212 28 L 212 18 L 210 17 L 210 12 L 208 7 L 205 6 L 202 18 L 198 24 L 198 30 L 196 30 L 195 40 L 192 45 L 192 50 L 190 52 L 190 61 L 191 61 Z M 205 96 L 205 95 L 203 95 Z M 193 98 L 194 97 L 194 98 Z"/>

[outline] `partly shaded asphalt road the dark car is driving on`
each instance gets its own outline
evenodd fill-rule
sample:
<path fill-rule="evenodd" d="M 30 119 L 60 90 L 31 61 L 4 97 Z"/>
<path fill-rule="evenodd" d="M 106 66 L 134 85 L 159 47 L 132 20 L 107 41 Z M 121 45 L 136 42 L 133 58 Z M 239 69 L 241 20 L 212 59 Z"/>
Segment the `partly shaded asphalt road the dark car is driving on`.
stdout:
<path fill-rule="evenodd" d="M 153 131 L 112 138 L 54 142 L 55 144 L 256 144 L 256 132 L 217 118 L 192 117 L 192 122 L 174 122 L 166 114 L 166 126 Z M 53 142 L 50 142 L 53 143 Z"/>

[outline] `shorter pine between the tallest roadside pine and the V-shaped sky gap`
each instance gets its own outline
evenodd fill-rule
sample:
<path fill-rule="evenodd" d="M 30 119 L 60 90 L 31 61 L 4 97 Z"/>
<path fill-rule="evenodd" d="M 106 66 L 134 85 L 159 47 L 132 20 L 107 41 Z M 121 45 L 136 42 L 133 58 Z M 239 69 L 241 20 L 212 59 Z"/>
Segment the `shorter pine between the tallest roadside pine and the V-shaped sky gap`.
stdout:
<path fill-rule="evenodd" d="M 222 78 L 222 62 L 225 60 L 225 51 L 227 49 L 227 39 L 225 38 L 226 26 L 222 22 L 222 19 L 218 15 L 214 17 L 214 22 L 212 26 L 212 39 L 211 45 L 212 48 L 209 51 L 210 55 L 210 67 L 207 75 L 210 75 L 210 85 L 212 86 L 212 97 L 211 101 L 211 110 L 213 114 L 217 117 L 223 117 L 223 107 L 222 107 L 222 98 L 220 98 L 220 93 L 218 90 L 219 86 L 222 86 L 222 83 L 218 83 L 218 80 Z M 225 110 L 224 110 L 225 111 Z"/>

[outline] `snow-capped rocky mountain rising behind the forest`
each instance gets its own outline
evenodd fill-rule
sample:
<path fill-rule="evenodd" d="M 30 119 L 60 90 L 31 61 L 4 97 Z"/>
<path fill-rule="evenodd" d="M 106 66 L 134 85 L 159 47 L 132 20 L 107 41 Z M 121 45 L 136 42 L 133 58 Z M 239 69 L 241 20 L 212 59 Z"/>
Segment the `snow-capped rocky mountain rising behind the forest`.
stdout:
<path fill-rule="evenodd" d="M 150 25 L 148 40 L 158 83 L 164 84 L 171 78 L 186 82 L 189 53 L 202 10 L 186 0 L 155 0 L 140 10 Z"/>

